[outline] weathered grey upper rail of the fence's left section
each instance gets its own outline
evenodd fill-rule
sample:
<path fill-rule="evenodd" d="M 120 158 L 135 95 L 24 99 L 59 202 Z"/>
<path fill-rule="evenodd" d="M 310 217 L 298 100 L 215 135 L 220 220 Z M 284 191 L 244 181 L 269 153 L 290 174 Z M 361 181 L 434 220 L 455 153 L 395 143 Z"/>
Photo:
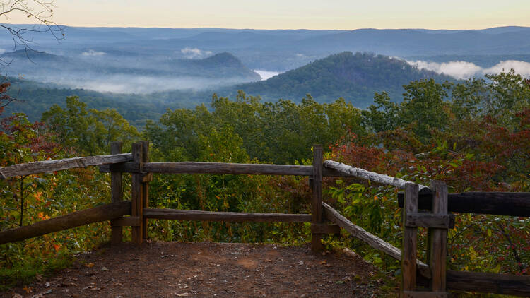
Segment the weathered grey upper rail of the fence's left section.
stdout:
<path fill-rule="evenodd" d="M 115 155 L 96 155 L 88 157 L 73 157 L 64 160 L 43 160 L 42 162 L 28 162 L 25 164 L 11 165 L 0 168 L 0 179 L 9 177 L 25 176 L 45 172 L 56 172 L 63 169 L 73 169 L 76 167 L 88 167 L 92 165 L 108 165 L 117 162 L 127 162 L 132 160 L 131 153 Z"/>

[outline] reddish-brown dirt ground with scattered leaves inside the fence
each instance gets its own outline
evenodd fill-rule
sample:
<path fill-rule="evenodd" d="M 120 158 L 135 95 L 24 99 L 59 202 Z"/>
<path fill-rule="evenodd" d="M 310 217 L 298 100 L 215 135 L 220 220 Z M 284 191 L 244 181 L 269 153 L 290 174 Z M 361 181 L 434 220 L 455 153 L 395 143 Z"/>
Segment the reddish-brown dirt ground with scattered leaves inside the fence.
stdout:
<path fill-rule="evenodd" d="M 309 246 L 152 242 L 82 254 L 0 297 L 384 297 L 376 273 L 358 256 Z"/>

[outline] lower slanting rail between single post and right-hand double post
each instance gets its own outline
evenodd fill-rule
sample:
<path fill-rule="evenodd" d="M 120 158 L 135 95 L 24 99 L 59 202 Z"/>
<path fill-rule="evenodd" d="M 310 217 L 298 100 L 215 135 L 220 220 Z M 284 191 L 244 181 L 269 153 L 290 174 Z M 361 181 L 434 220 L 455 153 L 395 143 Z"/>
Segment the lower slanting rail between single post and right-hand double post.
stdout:
<path fill-rule="evenodd" d="M 342 227 L 344 230 L 348 231 L 353 237 L 360 239 L 366 244 L 372 246 L 374 249 L 382 251 L 392 258 L 401 261 L 401 251 L 396 246 L 393 246 L 374 234 L 367 232 L 362 227 L 354 225 L 346 217 L 343 217 L 341 213 L 338 213 L 337 210 L 331 208 L 330 205 L 322 203 L 322 207 L 324 208 L 324 214 L 326 215 L 327 220 L 334 222 L 339 227 Z M 418 268 L 418 272 L 423 277 L 430 278 L 430 269 L 425 263 L 416 260 L 416 268 Z"/>

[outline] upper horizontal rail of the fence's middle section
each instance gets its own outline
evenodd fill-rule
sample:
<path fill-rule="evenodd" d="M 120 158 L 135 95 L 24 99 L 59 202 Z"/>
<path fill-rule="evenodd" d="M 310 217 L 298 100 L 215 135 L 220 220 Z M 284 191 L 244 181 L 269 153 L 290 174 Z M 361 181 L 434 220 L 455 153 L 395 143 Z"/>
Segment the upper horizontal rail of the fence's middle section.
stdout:
<path fill-rule="evenodd" d="M 103 165 L 100 172 L 148 172 L 161 174 L 256 174 L 256 175 L 293 175 L 312 176 L 310 165 L 270 165 L 238 164 L 223 162 L 145 162 L 140 169 L 135 162 L 124 162 L 119 165 Z M 347 177 L 334 169 L 322 172 L 326 177 Z"/>

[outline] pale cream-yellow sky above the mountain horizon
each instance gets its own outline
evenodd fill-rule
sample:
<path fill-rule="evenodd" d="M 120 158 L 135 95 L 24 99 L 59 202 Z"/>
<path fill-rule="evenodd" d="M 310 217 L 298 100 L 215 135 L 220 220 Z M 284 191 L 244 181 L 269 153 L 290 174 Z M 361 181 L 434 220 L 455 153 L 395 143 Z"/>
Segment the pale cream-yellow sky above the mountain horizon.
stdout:
<path fill-rule="evenodd" d="M 530 26 L 530 0 L 56 0 L 55 4 L 55 23 L 89 27 L 353 30 Z M 34 23 L 25 16 L 0 22 Z"/>

